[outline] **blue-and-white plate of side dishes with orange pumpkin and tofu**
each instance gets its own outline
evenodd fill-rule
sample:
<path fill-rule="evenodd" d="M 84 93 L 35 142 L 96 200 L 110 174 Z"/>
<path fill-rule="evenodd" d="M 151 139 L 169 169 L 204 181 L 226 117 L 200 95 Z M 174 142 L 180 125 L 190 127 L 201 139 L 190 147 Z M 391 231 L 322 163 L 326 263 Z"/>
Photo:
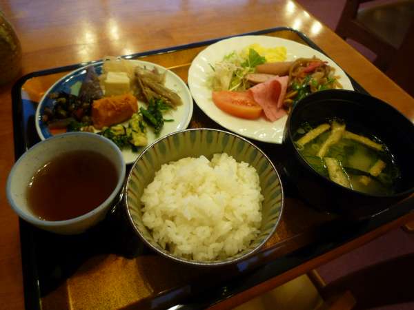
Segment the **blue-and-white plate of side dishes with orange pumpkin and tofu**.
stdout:
<path fill-rule="evenodd" d="M 63 132 L 95 132 L 119 146 L 127 164 L 157 138 L 184 130 L 193 98 L 174 72 L 147 61 L 106 57 L 70 72 L 36 110 L 41 140 Z"/>

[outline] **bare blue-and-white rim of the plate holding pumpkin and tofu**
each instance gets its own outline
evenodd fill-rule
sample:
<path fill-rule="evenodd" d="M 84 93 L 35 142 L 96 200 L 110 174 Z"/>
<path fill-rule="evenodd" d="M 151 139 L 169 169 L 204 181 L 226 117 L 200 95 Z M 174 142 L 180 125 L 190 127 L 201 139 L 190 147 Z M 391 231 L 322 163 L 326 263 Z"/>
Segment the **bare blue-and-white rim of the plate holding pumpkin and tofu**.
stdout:
<path fill-rule="evenodd" d="M 177 92 L 177 94 L 181 97 L 181 100 L 183 101 L 183 105 L 177 107 L 177 110 L 171 110 L 170 112 L 167 112 L 164 115 L 164 118 L 172 118 L 174 119 L 174 121 L 164 123 L 164 127 L 161 130 L 161 133 L 158 137 L 155 136 L 151 128 L 148 128 L 148 145 L 157 140 L 157 138 L 166 136 L 166 134 L 186 129 L 186 127 L 190 123 L 191 116 L 193 115 L 193 98 L 191 97 L 190 91 L 188 90 L 186 83 L 184 83 L 184 81 L 179 76 L 177 76 L 177 74 L 170 70 L 167 70 L 161 65 L 156 65 L 155 63 L 148 63 L 147 61 L 131 61 L 137 63 L 137 65 L 145 65 L 148 69 L 157 68 L 159 72 L 166 71 L 166 87 L 168 87 L 170 90 L 174 90 L 175 92 Z M 100 74 L 102 62 L 94 63 L 92 65 L 95 67 L 95 70 L 97 70 L 97 73 Z M 52 87 L 50 87 L 46 94 L 44 94 L 39 105 L 37 106 L 35 116 L 36 130 L 41 140 L 45 140 L 46 138 L 52 136 L 52 134 L 50 134 L 48 130 L 48 127 L 41 121 L 41 115 L 43 114 L 44 107 L 52 105 L 53 102 L 52 99 L 48 98 L 48 94 L 61 90 L 70 92 L 70 86 L 74 85 L 78 81 L 83 81 L 85 75 L 86 67 L 72 71 L 66 76 L 63 76 L 63 78 L 59 79 L 59 81 L 52 85 Z M 139 105 L 141 105 L 141 103 L 139 103 Z M 141 149 L 139 149 L 139 152 L 132 152 L 130 148 L 122 149 L 122 154 L 124 155 L 126 163 L 133 163 L 142 149 L 144 149 L 144 147 L 141 147 Z"/>

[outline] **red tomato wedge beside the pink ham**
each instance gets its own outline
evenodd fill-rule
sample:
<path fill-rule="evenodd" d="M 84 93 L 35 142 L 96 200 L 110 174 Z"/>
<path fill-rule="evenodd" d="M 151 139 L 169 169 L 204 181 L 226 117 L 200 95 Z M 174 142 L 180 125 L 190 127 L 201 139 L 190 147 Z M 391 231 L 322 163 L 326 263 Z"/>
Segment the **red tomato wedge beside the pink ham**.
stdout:
<path fill-rule="evenodd" d="M 213 92 L 213 102 L 220 110 L 241 118 L 256 119 L 262 114 L 262 107 L 250 92 Z"/>

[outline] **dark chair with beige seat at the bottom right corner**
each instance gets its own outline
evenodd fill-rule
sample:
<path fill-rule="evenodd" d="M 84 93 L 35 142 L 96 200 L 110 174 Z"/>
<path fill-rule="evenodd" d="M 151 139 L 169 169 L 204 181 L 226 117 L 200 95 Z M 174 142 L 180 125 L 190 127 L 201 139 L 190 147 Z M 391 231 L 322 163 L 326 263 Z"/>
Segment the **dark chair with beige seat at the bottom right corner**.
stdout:
<path fill-rule="evenodd" d="M 414 253 L 407 254 L 369 265 L 329 283 L 313 269 L 306 276 L 263 293 L 235 310 L 357 310 L 414 302 L 413 262 Z"/>

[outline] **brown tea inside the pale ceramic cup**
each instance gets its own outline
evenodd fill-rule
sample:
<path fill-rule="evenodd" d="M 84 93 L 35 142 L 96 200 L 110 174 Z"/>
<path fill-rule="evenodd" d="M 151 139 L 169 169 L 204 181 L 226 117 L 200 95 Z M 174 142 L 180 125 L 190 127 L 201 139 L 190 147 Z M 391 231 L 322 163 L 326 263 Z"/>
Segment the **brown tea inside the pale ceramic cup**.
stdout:
<path fill-rule="evenodd" d="M 28 186 L 28 205 L 42 220 L 68 220 L 92 211 L 117 186 L 115 165 L 92 151 L 67 152 L 43 165 Z"/>

